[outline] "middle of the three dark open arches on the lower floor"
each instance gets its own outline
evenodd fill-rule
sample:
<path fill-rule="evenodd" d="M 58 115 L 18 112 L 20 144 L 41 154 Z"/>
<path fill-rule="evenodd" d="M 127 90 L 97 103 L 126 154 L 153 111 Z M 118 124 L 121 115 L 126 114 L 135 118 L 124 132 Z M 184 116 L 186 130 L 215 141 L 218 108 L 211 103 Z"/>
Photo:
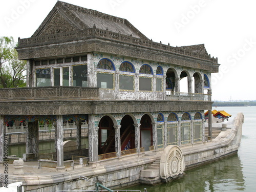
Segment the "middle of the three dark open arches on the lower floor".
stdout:
<path fill-rule="evenodd" d="M 135 129 L 133 124 L 134 121 L 130 115 L 125 115 L 121 120 L 121 151 L 135 148 Z"/>

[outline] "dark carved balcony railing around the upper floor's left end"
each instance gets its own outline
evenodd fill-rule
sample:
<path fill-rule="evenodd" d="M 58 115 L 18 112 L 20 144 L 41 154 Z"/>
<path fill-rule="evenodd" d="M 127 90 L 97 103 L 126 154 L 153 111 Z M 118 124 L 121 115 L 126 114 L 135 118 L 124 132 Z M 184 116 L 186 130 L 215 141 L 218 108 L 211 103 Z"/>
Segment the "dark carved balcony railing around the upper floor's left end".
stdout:
<path fill-rule="evenodd" d="M 0 100 L 99 99 L 99 88 L 34 87 L 1 89 Z"/>

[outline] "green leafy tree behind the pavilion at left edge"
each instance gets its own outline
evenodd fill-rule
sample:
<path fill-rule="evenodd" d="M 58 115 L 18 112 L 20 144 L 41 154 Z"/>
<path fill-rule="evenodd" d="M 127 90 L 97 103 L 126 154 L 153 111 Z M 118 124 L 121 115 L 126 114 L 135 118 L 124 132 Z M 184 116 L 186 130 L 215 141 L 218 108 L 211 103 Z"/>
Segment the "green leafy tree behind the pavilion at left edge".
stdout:
<path fill-rule="evenodd" d="M 0 37 L 0 88 L 26 87 L 26 61 L 18 60 L 13 37 Z"/>

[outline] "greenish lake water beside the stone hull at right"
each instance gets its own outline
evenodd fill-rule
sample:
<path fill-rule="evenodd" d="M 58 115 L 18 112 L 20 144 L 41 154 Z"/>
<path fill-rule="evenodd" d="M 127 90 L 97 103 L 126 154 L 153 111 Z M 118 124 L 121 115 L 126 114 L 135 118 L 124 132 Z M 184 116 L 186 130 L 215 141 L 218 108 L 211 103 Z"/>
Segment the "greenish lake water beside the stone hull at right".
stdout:
<path fill-rule="evenodd" d="M 242 112 L 245 116 L 243 136 L 238 155 L 185 171 L 186 175 L 170 183 L 156 186 L 136 185 L 125 189 L 148 192 L 201 192 L 201 191 L 255 191 L 256 177 L 256 106 L 221 106 L 232 117 Z M 214 110 L 212 109 L 212 110 Z"/>

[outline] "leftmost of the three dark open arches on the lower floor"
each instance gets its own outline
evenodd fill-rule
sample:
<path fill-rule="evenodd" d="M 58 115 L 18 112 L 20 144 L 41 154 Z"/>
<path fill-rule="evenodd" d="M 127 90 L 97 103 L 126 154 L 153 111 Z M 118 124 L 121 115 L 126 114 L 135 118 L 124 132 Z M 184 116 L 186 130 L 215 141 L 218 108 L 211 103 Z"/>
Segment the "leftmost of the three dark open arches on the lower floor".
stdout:
<path fill-rule="evenodd" d="M 104 116 L 99 121 L 98 147 L 99 155 L 115 152 L 115 129 L 109 116 Z"/>

